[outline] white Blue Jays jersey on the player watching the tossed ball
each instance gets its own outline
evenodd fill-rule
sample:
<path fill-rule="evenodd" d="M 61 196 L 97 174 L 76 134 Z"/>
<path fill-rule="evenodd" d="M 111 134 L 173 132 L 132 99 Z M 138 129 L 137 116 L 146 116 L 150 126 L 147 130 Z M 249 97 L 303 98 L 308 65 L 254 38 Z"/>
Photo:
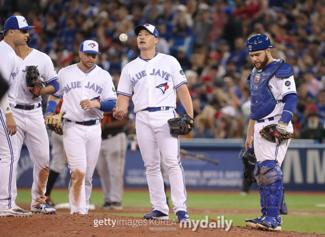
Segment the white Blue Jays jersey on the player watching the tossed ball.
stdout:
<path fill-rule="evenodd" d="M 176 88 L 187 83 L 179 62 L 173 56 L 158 53 L 150 60 L 141 57 L 122 70 L 117 93 L 132 97 L 137 113 L 148 107 L 176 108 Z"/>

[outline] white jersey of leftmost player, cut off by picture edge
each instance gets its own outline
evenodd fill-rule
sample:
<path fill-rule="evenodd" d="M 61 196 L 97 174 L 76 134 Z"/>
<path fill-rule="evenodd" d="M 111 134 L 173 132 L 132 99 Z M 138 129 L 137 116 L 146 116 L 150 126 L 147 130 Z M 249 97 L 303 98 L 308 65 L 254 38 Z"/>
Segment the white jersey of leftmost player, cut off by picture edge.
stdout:
<path fill-rule="evenodd" d="M 9 105 L 16 106 L 16 96 L 18 93 L 18 63 L 16 51 L 4 40 L 0 42 L 0 72 L 3 78 L 8 82 L 7 91 Z"/>

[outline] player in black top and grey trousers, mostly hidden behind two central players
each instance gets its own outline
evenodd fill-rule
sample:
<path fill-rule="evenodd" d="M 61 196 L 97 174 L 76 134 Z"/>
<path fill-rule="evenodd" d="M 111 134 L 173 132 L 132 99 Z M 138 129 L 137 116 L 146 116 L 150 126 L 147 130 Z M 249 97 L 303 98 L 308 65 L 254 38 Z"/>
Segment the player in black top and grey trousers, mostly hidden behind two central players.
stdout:
<path fill-rule="evenodd" d="M 102 209 L 121 210 L 123 195 L 123 174 L 127 139 L 124 132 L 128 116 L 122 120 L 113 118 L 113 113 L 104 113 L 102 120 L 102 144 L 97 161 L 105 204 Z"/>

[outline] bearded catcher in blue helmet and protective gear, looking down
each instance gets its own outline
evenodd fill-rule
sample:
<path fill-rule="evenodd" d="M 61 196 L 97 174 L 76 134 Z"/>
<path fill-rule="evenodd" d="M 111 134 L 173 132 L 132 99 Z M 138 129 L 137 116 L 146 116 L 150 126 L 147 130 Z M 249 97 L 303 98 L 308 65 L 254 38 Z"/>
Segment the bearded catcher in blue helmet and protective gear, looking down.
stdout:
<path fill-rule="evenodd" d="M 247 219 L 246 225 L 267 230 L 281 230 L 283 175 L 281 164 L 290 140 L 275 143 L 261 137 L 264 126 L 277 124 L 276 136 L 293 132 L 290 120 L 297 105 L 297 92 L 293 68 L 281 59 L 273 59 L 270 39 L 254 35 L 247 40 L 246 49 L 254 65 L 250 80 L 250 120 L 245 143 L 252 148 L 257 159 L 254 175 L 261 195 L 262 217 Z"/>

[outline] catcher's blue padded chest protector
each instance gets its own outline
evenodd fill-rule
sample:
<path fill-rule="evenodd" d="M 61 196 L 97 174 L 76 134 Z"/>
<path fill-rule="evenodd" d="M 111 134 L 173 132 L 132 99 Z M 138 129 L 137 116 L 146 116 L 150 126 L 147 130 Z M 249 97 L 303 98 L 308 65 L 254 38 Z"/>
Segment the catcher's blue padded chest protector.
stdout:
<path fill-rule="evenodd" d="M 284 61 L 279 59 L 271 62 L 258 73 L 253 69 L 250 74 L 250 116 L 251 119 L 262 119 L 272 113 L 276 101 L 269 88 L 269 80 L 278 71 Z"/>

